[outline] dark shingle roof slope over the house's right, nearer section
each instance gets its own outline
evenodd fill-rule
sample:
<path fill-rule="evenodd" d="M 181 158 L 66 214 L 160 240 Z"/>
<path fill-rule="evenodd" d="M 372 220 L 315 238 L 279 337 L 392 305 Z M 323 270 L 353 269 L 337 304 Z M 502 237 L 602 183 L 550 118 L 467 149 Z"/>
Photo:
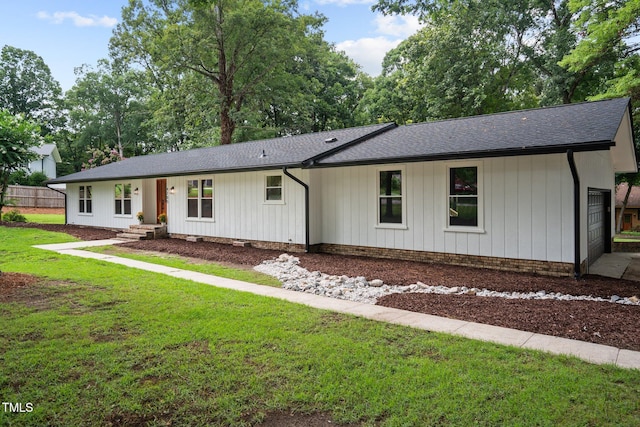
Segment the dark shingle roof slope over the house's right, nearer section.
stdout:
<path fill-rule="evenodd" d="M 370 164 L 606 149 L 629 99 L 400 126 L 317 164 Z"/>

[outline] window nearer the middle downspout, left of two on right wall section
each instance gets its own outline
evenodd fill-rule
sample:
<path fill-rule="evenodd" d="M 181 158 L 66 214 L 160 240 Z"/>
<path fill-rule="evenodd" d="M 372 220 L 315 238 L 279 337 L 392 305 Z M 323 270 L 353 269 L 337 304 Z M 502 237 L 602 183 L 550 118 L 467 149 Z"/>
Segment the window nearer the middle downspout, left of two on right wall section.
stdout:
<path fill-rule="evenodd" d="M 405 223 L 404 183 L 402 169 L 378 170 L 378 224 Z"/>

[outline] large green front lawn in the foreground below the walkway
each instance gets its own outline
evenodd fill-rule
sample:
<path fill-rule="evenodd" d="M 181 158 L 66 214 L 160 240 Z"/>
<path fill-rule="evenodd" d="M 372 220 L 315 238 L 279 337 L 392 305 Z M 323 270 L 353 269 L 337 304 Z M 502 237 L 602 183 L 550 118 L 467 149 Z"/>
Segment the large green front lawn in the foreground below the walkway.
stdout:
<path fill-rule="evenodd" d="M 0 227 L 0 425 L 640 424 L 640 371 L 428 333 L 31 248 Z"/>

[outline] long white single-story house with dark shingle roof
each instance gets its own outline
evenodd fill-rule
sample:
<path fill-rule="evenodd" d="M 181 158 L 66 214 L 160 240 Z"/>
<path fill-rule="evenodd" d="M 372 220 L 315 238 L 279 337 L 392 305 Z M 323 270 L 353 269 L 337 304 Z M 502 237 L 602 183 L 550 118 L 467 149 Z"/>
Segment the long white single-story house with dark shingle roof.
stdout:
<path fill-rule="evenodd" d="M 610 251 L 629 99 L 133 157 L 67 184 L 71 224 L 577 275 Z"/>

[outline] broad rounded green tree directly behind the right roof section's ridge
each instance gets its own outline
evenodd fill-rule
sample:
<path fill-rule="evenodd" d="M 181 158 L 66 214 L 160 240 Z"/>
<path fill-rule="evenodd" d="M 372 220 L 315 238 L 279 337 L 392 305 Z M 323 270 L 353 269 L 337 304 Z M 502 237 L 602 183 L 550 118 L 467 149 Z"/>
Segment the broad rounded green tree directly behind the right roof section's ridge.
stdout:
<path fill-rule="evenodd" d="M 385 57 L 378 94 L 368 96 L 376 119 L 424 121 L 535 105 L 532 69 L 522 60 L 528 9 L 511 7 L 458 1 L 425 18 L 424 29 Z"/>

